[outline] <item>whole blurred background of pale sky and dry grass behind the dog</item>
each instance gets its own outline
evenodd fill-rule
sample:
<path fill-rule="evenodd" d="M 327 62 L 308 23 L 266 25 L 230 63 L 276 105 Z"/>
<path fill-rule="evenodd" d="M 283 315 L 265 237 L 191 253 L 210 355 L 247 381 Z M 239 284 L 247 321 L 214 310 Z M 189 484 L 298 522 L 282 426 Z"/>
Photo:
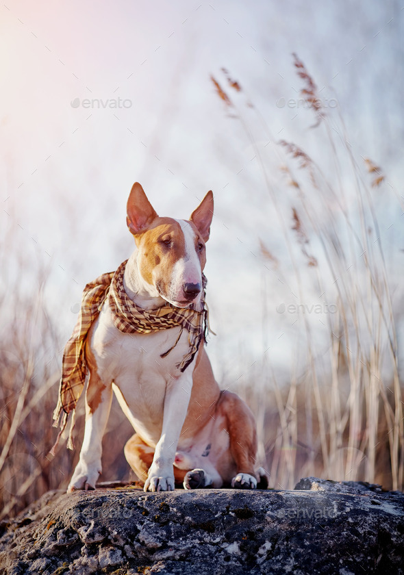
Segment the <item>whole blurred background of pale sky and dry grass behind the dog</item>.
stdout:
<path fill-rule="evenodd" d="M 83 417 L 49 456 L 62 350 L 84 285 L 133 249 L 134 181 L 177 218 L 214 192 L 207 352 L 255 413 L 270 487 L 403 489 L 401 4 L 0 13 L 2 514 L 73 472 Z M 101 479 L 131 477 L 130 435 L 114 404 Z"/>

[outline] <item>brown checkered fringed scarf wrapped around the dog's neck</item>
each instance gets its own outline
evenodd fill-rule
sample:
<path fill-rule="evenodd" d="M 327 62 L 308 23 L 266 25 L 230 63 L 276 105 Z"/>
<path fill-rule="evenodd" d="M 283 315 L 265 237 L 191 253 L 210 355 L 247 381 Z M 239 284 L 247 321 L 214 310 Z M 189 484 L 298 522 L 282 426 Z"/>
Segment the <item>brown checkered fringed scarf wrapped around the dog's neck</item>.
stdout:
<path fill-rule="evenodd" d="M 62 377 L 60 379 L 58 405 L 53 413 L 55 427 L 60 427 L 60 433 L 51 452 L 54 453 L 60 436 L 66 428 L 69 413 L 73 411 L 71 430 L 68 439 L 68 448 L 73 449 L 73 427 L 75 424 L 75 408 L 77 400 L 84 388 L 86 374 L 86 338 L 92 322 L 99 316 L 103 303 L 108 300 L 115 326 L 123 333 L 151 333 L 160 329 L 181 327 L 175 344 L 160 357 L 166 357 L 179 342 L 184 329 L 188 331 L 189 350 L 177 368 L 184 372 L 194 359 L 203 340 L 209 331 L 207 307 L 204 298 L 201 309 L 194 305 L 181 308 L 164 305 L 153 310 L 138 307 L 127 296 L 123 287 L 123 275 L 127 260 L 118 267 L 116 272 L 102 274 L 84 288 L 81 299 L 81 309 L 77 323 L 70 340 L 68 340 L 63 354 Z M 203 296 L 205 296 L 206 278 L 203 275 Z"/>

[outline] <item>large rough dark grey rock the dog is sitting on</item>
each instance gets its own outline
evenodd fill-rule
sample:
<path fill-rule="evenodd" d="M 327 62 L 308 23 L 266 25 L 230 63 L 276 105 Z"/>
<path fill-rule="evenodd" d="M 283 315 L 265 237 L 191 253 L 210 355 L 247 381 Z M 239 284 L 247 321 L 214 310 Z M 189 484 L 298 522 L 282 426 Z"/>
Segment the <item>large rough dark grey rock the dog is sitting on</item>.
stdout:
<path fill-rule="evenodd" d="M 402 574 L 404 494 L 304 478 L 291 491 L 51 491 L 0 525 L 0 574 Z"/>

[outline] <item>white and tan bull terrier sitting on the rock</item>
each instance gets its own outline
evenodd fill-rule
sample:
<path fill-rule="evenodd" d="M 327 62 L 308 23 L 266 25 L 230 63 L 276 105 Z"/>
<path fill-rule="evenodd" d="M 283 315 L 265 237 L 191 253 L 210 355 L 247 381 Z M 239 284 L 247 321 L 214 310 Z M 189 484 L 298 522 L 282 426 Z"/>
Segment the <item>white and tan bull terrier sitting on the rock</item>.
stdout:
<path fill-rule="evenodd" d="M 131 188 L 127 227 L 136 249 L 121 269 L 121 287 L 114 288 L 121 290 L 124 303 L 108 295 L 81 337 L 86 364 L 81 376 L 89 372 L 86 424 L 68 491 L 95 488 L 112 392 L 136 432 L 124 452 L 144 491 L 171 491 L 181 484 L 185 489 L 266 487 L 262 468 L 255 471 L 253 413 L 236 394 L 220 390 L 205 352 L 203 268 L 212 217 L 212 192 L 189 220 L 176 220 L 157 216 L 140 183 Z M 107 278 L 112 277 L 110 290 L 115 275 Z M 117 320 L 121 313 L 129 324 L 134 313 L 141 320 L 151 314 L 151 320 L 127 333 Z M 173 325 L 154 329 L 153 318 L 160 321 L 160 314 L 164 321 L 178 316 L 181 322 L 181 314 L 189 314 L 188 323 L 173 320 Z M 77 346 L 77 333 L 73 336 Z M 65 355 L 68 363 L 67 346 Z M 69 389 L 77 396 L 74 385 Z M 66 418 L 70 408 L 62 407 Z"/>

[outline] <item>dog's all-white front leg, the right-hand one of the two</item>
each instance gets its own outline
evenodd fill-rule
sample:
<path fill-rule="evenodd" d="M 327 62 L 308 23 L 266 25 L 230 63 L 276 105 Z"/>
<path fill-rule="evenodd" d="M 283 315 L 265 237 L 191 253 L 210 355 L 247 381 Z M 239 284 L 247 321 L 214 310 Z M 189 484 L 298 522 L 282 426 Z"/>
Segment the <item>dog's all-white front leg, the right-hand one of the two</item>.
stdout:
<path fill-rule="evenodd" d="M 179 435 L 186 418 L 192 389 L 191 366 L 178 378 L 167 383 L 164 398 L 162 435 L 155 447 L 153 463 L 144 483 L 144 491 L 172 491 L 173 463 Z M 188 372 L 188 373 L 187 373 Z"/>

